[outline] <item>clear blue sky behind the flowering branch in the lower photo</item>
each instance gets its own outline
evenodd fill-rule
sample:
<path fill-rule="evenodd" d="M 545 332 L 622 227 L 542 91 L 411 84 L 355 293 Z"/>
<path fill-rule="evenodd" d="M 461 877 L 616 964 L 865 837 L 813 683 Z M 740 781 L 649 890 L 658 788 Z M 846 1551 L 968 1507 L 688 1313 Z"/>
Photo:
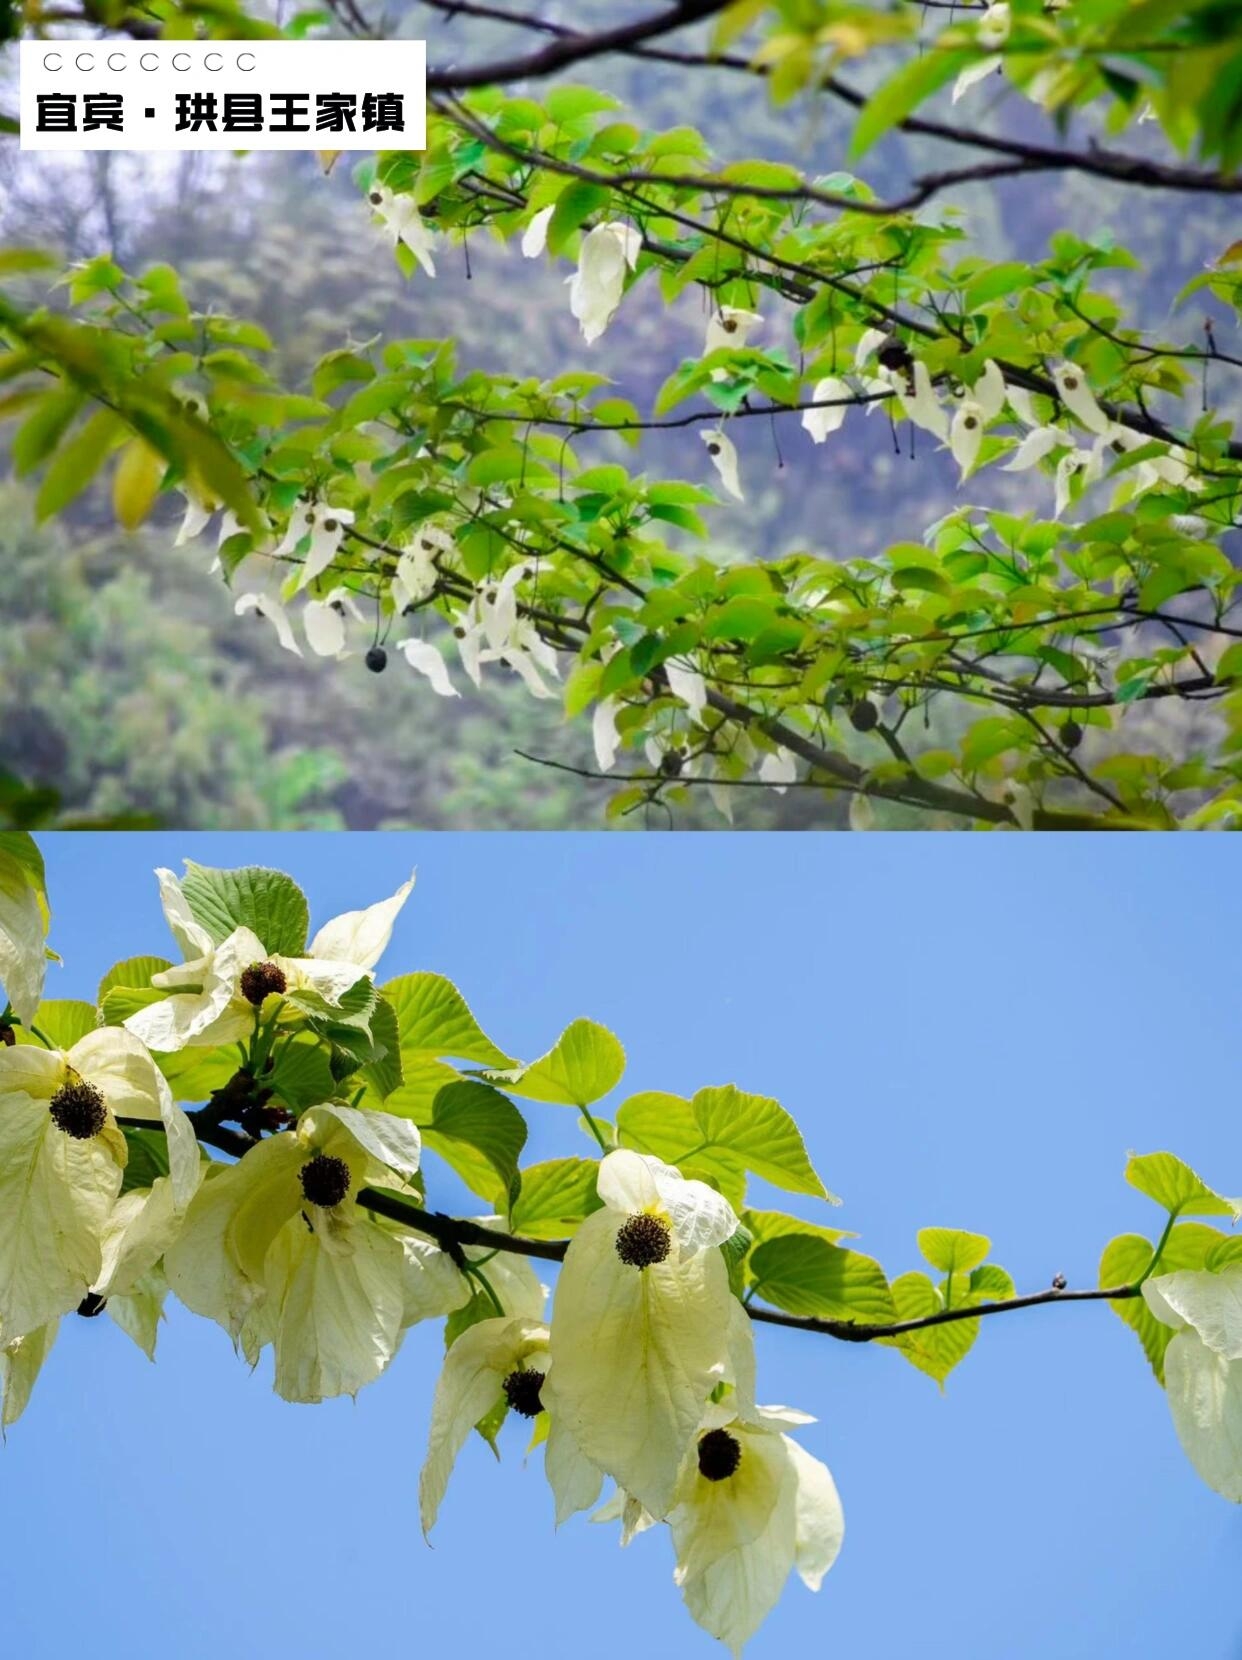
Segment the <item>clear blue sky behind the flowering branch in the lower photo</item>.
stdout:
<path fill-rule="evenodd" d="M 1126 1152 L 1242 1185 L 1239 936 L 1227 838 L 60 835 L 40 838 L 56 996 L 169 941 L 151 870 L 289 870 L 322 921 L 418 868 L 382 974 L 453 976 L 501 1047 L 575 1016 L 628 1047 L 623 1092 L 779 1097 L 890 1273 L 966 1227 L 1024 1290 L 1094 1283 L 1159 1217 Z M 621 1096 L 618 1096 L 621 1099 Z M 531 1154 L 588 1152 L 531 1106 Z M 769 1195 L 775 1199 L 775 1195 Z M 433 1199 L 458 1202 L 443 1182 Z M 807 1215 L 822 1207 L 802 1205 Z M 3 1640 L 23 1657 L 724 1653 L 663 1531 L 553 1536 L 538 1459 L 463 1456 L 435 1549 L 415 1484 L 440 1335 L 357 1403 L 287 1406 L 176 1306 L 156 1366 L 68 1320 L 0 1452 Z M 1242 1512 L 1184 1461 L 1103 1305 L 985 1323 L 945 1394 L 892 1351 L 759 1333 L 760 1399 L 819 1416 L 847 1540 L 747 1650 L 920 1660 L 1240 1660 Z"/>

